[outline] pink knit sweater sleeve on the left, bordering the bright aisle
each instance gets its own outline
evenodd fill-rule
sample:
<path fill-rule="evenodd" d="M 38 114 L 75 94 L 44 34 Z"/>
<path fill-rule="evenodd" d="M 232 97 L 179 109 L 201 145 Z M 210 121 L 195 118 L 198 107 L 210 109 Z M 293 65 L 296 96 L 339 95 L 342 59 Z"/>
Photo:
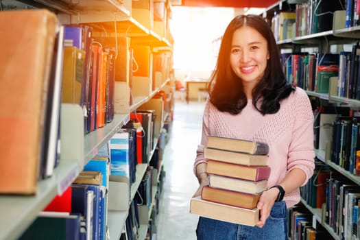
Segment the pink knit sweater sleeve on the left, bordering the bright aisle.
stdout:
<path fill-rule="evenodd" d="M 193 172 L 195 175 L 196 175 L 196 166 L 199 165 L 200 163 L 207 163 L 206 158 L 204 158 L 204 146 L 206 146 L 206 144 L 208 143 L 208 135 L 210 134 L 209 111 L 210 111 L 210 101 L 207 99 L 204 108 L 204 115 L 202 117 L 201 143 L 200 145 L 197 145 L 196 158 L 193 166 Z"/>

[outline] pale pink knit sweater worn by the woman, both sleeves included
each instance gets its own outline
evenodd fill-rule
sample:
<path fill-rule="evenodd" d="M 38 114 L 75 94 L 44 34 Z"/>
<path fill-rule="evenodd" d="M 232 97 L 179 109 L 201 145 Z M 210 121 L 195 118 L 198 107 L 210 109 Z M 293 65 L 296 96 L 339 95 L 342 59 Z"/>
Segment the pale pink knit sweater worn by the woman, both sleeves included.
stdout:
<path fill-rule="evenodd" d="M 194 171 L 199 163 L 206 163 L 203 153 L 208 135 L 267 143 L 271 167 L 267 187 L 280 183 L 287 171 L 294 168 L 302 169 L 307 180 L 313 174 L 313 112 L 309 97 L 301 88 L 296 88 L 295 93 L 280 102 L 276 114 L 265 116 L 252 106 L 251 100 L 238 115 L 220 112 L 206 101 L 202 140 L 197 147 Z M 293 206 L 300 201 L 300 191 L 286 193 L 284 200 L 288 208 Z"/>

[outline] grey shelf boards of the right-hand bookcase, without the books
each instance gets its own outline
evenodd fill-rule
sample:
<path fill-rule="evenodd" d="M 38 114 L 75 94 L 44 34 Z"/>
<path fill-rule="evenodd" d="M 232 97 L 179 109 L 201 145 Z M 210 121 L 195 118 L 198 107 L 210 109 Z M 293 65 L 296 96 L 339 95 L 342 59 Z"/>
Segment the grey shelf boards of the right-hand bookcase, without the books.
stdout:
<path fill-rule="evenodd" d="M 316 2 L 317 1 L 315 1 L 315 3 Z M 289 3 L 289 1 L 277 1 L 274 5 L 269 6 L 269 8 L 267 8 L 263 12 L 263 17 L 266 18 L 267 21 L 272 21 L 272 18 L 280 12 L 296 12 L 298 10 L 298 5 L 296 5 L 296 3 L 301 4 L 300 1 L 292 1 L 291 3 Z M 333 16 L 341 15 L 333 14 Z M 311 16 L 309 16 L 309 18 L 311 18 Z M 342 23 L 342 21 L 344 21 L 344 27 L 339 27 L 339 25 L 341 26 L 340 23 Z M 360 39 L 360 26 L 357 25 L 355 27 L 345 27 L 345 19 L 341 18 L 337 18 L 334 20 L 332 29 L 327 29 L 325 31 L 320 31 L 316 33 L 309 34 L 309 32 L 305 32 L 301 34 L 301 29 L 297 29 L 296 27 L 293 26 L 291 32 L 299 31 L 300 34 L 292 33 L 289 38 L 278 41 L 278 47 L 281 53 L 292 53 L 300 51 L 308 53 L 339 53 L 340 51 L 349 51 L 345 50 L 345 45 L 355 45 Z M 334 87 L 336 89 L 337 83 L 331 80 L 329 86 L 329 93 L 317 93 L 315 91 L 308 91 L 307 89 L 305 89 L 305 91 L 307 95 L 309 95 L 309 97 L 315 97 L 315 99 L 319 100 L 321 106 L 322 104 L 324 104 L 325 106 L 329 105 L 334 106 L 335 108 L 337 106 L 347 106 L 352 110 L 359 109 L 359 100 L 350 99 L 347 97 L 338 97 L 337 93 L 335 93 L 333 90 Z M 333 161 L 331 161 L 330 159 L 331 154 L 329 154 L 329 152 L 330 149 L 315 149 L 315 156 L 325 165 L 328 165 L 331 168 L 331 171 L 333 171 L 334 173 L 338 173 L 340 176 L 344 176 L 345 178 L 350 180 L 350 182 L 360 185 L 360 177 L 355 176 L 353 173 L 350 173 L 350 171 L 347 171 L 343 167 L 340 167 L 339 165 L 333 163 Z M 333 239 L 342 239 L 342 236 L 338 235 L 331 226 L 326 224 L 326 217 L 324 217 L 324 214 L 326 213 L 324 213 L 322 209 L 312 208 L 303 199 L 300 202 L 312 213 L 313 226 L 317 226 L 318 223 L 331 235 L 331 237 L 333 237 Z"/>

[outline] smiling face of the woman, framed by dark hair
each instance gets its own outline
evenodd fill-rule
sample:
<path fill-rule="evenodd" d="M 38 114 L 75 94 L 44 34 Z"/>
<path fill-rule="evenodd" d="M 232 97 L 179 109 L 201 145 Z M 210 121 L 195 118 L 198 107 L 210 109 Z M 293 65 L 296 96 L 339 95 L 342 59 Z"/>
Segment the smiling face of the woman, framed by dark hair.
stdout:
<path fill-rule="evenodd" d="M 264 75 L 269 51 L 267 41 L 256 29 L 248 26 L 235 30 L 230 50 L 232 71 L 245 88 L 254 88 Z"/>

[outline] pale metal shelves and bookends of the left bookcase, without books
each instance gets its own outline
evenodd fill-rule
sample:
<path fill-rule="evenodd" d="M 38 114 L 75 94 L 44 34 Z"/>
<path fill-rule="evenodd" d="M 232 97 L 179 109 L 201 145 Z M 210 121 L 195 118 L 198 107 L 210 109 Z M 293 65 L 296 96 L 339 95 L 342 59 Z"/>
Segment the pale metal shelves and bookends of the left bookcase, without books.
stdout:
<path fill-rule="evenodd" d="M 94 36 L 128 36 L 131 38 L 132 44 L 149 45 L 152 51 L 160 50 L 171 53 L 173 47 L 169 29 L 159 31 L 153 27 L 146 27 L 143 20 L 139 19 L 139 15 L 132 13 L 132 0 L 9 0 L 2 3 L 2 8 L 2 10 L 46 8 L 56 12 L 61 24 L 90 25 L 94 29 Z M 148 20 L 152 21 L 152 19 Z M 152 99 L 165 86 L 172 84 L 171 81 L 170 76 L 149 95 L 135 96 L 129 112 L 115 114 L 114 119 L 103 128 L 98 128 L 85 135 L 82 131 L 84 129 L 83 110 L 80 106 L 62 104 L 60 164 L 55 169 L 53 176 L 38 181 L 36 195 L 0 195 L 0 210 L 2 211 L 0 239 L 19 238 L 53 197 L 67 189 L 82 171 L 84 165 L 129 121 L 130 112 Z M 152 149 L 151 156 L 154 154 L 154 150 Z M 134 198 L 147 166 L 148 163 L 136 166 L 136 182 L 130 189 L 131 200 Z M 119 239 L 127 217 L 128 211 L 108 211 L 110 239 Z M 147 217 L 149 218 L 149 216 Z M 139 229 L 139 240 L 145 239 L 146 233 L 147 226 L 142 225 Z"/>

